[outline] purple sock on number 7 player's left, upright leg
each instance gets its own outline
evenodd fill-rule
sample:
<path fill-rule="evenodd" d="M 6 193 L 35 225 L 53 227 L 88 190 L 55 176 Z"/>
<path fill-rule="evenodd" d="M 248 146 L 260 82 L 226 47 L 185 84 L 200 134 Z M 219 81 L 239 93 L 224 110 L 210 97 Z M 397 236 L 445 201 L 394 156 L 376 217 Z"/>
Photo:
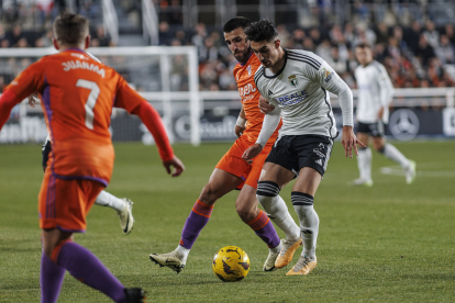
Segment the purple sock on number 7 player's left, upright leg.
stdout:
<path fill-rule="evenodd" d="M 65 268 L 57 266 L 46 255 L 41 256 L 41 302 L 55 303 L 65 278 Z"/>

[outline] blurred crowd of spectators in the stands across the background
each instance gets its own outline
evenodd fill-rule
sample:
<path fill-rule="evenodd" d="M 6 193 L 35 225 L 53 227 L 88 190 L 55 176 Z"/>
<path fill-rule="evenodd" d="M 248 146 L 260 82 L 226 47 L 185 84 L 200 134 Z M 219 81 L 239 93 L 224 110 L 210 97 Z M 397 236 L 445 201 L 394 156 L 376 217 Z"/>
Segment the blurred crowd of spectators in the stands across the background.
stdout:
<path fill-rule="evenodd" d="M 180 0 L 156 0 L 178 8 Z M 163 2 L 163 3 L 162 3 Z M 357 61 L 354 46 L 360 41 L 374 45 L 375 59 L 382 63 L 396 88 L 428 88 L 455 86 L 455 19 L 442 22 L 434 10 L 422 10 L 423 0 L 397 0 L 395 4 L 373 5 L 381 1 L 352 1 L 346 15 L 348 21 L 335 18 L 336 1 L 313 1 L 304 22 L 279 24 L 277 30 L 285 48 L 314 52 L 325 59 L 351 88 L 356 88 L 354 69 Z M 65 0 L 0 0 L 0 47 L 52 46 L 52 22 L 59 11 L 69 9 Z M 91 21 L 91 46 L 114 46 L 106 33 L 100 0 L 77 0 L 73 8 Z M 331 4 L 332 3 L 332 4 Z M 371 4 L 373 3 L 373 4 Z M 368 5 L 367 5 L 368 4 Z M 420 8 L 420 9 L 419 9 Z M 137 8 L 136 8 L 137 9 Z M 101 18 L 100 18 L 101 16 Z M 199 23 L 192 29 L 184 27 L 182 13 L 177 9 L 159 13 L 159 45 L 196 45 L 199 56 L 200 90 L 235 90 L 232 70 L 237 64 L 224 43 L 221 26 Z M 452 22 L 452 23 L 451 23 Z M 122 68 L 130 78 L 135 70 L 129 61 L 112 67 Z M 104 60 L 103 60 L 104 61 Z M 170 89 L 188 89 L 188 64 L 185 56 L 173 56 Z M 31 59 L 0 60 L 0 88 L 22 71 Z M 111 60 L 104 61 L 111 64 Z M 157 67 L 151 64 L 151 68 Z M 130 70 L 129 70 L 130 68 Z M 135 67 L 137 68 L 137 67 Z M 137 69 L 136 69 L 137 70 Z M 146 71 L 144 71 L 144 75 Z M 149 71 L 159 78 L 159 72 Z M 141 75 L 138 89 L 159 90 L 157 85 L 145 83 Z"/>

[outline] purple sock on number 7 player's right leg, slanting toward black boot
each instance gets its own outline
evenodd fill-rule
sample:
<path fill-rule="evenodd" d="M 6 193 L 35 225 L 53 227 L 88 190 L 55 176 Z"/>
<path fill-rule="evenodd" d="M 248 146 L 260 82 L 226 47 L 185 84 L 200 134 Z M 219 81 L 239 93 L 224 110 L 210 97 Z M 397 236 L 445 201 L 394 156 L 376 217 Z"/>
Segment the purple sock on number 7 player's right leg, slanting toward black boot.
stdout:
<path fill-rule="evenodd" d="M 125 302 L 124 287 L 87 248 L 68 242 L 62 246 L 57 263 L 82 283 L 101 291 L 114 302 Z"/>

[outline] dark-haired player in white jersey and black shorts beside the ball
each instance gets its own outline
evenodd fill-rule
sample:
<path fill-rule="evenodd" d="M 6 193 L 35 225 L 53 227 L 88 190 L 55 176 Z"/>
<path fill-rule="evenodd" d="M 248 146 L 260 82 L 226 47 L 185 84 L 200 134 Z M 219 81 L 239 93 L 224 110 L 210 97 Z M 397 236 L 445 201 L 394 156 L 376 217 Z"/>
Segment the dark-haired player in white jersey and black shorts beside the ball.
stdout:
<path fill-rule="evenodd" d="M 252 160 L 264 149 L 282 116 L 279 137 L 257 186 L 257 199 L 260 204 L 277 199 L 280 188 L 297 176 L 291 201 L 300 220 L 303 251 L 287 276 L 308 274 L 317 266 L 319 217 L 313 199 L 337 135 L 328 90 L 340 99 L 346 157 L 352 157 L 353 147 L 357 153 L 356 143 L 363 145 L 353 132 L 352 92 L 319 56 L 281 48 L 271 22 L 255 22 L 245 34 L 263 64 L 255 74 L 256 87 L 275 110 L 265 116 L 256 144 L 245 152 L 244 159 Z"/>

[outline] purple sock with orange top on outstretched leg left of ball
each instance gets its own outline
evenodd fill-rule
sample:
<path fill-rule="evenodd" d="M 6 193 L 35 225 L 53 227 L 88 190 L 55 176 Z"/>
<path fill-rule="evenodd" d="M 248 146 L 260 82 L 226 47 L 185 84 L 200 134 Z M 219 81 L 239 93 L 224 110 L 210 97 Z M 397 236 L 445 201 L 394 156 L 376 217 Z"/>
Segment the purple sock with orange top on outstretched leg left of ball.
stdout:
<path fill-rule="evenodd" d="M 187 249 L 191 249 L 199 233 L 209 222 L 212 214 L 213 205 L 207 205 L 201 201 L 197 201 L 185 222 L 184 231 L 181 231 L 180 245 Z"/>

